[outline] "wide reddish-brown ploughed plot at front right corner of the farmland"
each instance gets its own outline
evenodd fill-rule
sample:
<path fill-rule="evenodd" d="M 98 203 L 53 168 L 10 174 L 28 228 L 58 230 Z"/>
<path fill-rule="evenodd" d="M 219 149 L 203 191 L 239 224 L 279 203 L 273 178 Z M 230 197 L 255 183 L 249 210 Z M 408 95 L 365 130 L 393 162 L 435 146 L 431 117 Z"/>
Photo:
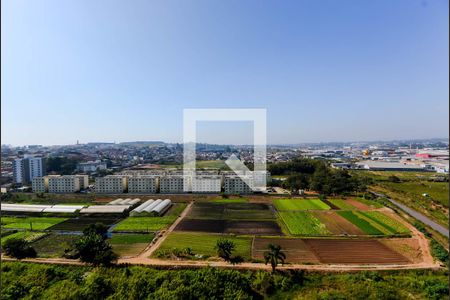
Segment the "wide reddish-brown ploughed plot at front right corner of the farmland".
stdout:
<path fill-rule="evenodd" d="M 304 239 L 321 263 L 408 264 L 410 261 L 377 240 Z"/>

